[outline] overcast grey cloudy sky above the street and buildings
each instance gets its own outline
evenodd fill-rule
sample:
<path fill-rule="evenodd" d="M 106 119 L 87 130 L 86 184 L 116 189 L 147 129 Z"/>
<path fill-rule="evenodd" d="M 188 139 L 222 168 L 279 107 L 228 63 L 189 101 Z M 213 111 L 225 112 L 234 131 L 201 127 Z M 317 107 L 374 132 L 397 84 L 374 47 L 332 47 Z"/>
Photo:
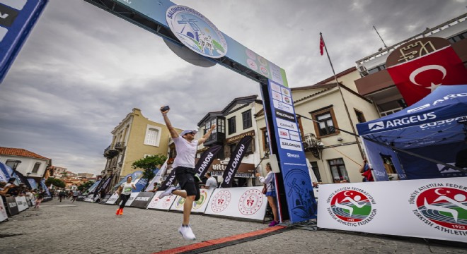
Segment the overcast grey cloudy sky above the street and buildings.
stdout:
<path fill-rule="evenodd" d="M 133 0 L 138 1 L 138 0 Z M 156 0 L 154 0 L 156 1 Z M 330 77 L 319 54 L 323 32 L 335 71 L 460 16 L 466 0 L 173 0 L 287 73 L 290 87 Z M 222 66 L 193 66 L 163 40 L 83 0 L 50 0 L 0 84 L 0 146 L 30 150 L 55 166 L 99 174 L 111 131 L 134 107 L 178 128 L 194 128 L 259 85 Z"/>

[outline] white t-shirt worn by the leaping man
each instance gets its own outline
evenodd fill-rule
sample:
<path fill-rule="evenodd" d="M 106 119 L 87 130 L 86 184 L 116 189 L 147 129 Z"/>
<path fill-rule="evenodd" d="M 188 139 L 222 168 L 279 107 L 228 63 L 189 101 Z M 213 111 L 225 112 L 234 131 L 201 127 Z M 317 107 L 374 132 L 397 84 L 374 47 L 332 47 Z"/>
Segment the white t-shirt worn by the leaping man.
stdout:
<path fill-rule="evenodd" d="M 177 150 L 177 156 L 173 160 L 172 168 L 176 167 L 188 167 L 195 168 L 195 156 L 196 147 L 198 146 L 198 140 L 192 140 L 188 142 L 185 138 L 178 136 L 173 139 L 175 143 L 175 150 Z"/>

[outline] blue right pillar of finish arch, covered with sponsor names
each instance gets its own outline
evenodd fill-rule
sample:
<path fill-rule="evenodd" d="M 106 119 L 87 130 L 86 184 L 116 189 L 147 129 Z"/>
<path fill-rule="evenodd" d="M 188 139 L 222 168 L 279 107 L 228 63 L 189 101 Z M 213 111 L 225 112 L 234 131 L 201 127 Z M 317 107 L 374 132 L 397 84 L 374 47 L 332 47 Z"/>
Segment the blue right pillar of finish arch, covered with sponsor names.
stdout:
<path fill-rule="evenodd" d="M 275 133 L 277 159 L 281 166 L 287 207 L 291 222 L 302 222 L 316 217 L 316 200 L 306 165 L 306 157 L 301 146 L 301 134 L 296 122 L 292 93 L 288 87 L 269 80 L 272 123 L 267 122 L 268 130 Z M 263 95 L 263 98 L 265 96 Z M 267 112 L 266 112 L 267 113 Z M 272 137 L 272 135 L 270 135 Z"/>

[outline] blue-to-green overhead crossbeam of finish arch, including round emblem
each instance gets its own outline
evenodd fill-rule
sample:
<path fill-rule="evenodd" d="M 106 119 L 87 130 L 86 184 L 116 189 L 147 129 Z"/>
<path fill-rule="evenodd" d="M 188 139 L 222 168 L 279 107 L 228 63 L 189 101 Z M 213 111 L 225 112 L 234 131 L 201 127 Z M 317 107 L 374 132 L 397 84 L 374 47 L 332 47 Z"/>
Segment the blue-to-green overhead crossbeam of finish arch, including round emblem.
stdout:
<path fill-rule="evenodd" d="M 170 28 L 180 42 L 197 54 L 214 59 L 225 56 L 255 73 L 288 86 L 284 69 L 225 35 L 202 13 L 190 7 L 175 5 L 168 0 L 115 1 Z"/>

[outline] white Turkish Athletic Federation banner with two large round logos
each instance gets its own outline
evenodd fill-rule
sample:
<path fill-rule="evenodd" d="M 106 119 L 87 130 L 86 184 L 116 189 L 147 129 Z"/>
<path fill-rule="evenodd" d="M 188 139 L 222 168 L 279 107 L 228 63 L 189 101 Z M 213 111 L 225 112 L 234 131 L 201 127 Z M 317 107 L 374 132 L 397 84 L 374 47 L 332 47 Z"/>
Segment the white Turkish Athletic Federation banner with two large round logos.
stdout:
<path fill-rule="evenodd" d="M 467 242 L 466 183 L 467 177 L 324 184 L 318 226 Z"/>

